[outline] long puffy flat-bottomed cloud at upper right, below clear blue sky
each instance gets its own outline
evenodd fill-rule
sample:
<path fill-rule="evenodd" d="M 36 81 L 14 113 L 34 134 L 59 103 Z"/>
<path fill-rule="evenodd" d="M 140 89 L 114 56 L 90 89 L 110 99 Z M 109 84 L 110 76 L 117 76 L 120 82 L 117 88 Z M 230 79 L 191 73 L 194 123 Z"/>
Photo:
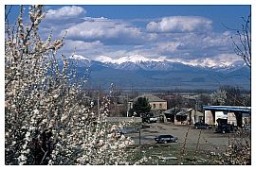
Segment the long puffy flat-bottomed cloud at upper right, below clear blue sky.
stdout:
<path fill-rule="evenodd" d="M 150 22 L 147 30 L 152 32 L 194 32 L 211 29 L 212 21 L 199 16 L 171 16 Z"/>

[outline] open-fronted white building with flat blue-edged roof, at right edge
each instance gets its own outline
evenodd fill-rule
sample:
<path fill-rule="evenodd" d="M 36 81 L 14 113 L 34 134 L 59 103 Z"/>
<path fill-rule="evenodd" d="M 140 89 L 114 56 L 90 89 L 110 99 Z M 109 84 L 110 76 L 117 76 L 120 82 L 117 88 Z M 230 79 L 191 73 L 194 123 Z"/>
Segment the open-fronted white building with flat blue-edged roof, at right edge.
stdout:
<path fill-rule="evenodd" d="M 217 119 L 227 119 L 229 124 L 237 127 L 250 125 L 250 107 L 240 106 L 203 106 L 204 122 L 217 125 Z"/>

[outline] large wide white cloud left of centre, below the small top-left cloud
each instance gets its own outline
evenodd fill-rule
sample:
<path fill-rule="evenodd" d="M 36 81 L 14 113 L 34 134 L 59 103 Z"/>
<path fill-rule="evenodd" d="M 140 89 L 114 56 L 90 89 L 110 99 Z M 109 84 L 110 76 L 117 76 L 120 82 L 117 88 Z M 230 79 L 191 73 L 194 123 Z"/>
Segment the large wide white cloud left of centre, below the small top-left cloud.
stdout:
<path fill-rule="evenodd" d="M 101 18 L 101 20 L 84 21 L 66 29 L 67 39 L 71 40 L 101 40 L 111 44 L 138 44 L 155 39 L 155 34 L 147 34 L 137 26 L 115 22 Z M 62 32 L 63 33 L 63 32 Z"/>

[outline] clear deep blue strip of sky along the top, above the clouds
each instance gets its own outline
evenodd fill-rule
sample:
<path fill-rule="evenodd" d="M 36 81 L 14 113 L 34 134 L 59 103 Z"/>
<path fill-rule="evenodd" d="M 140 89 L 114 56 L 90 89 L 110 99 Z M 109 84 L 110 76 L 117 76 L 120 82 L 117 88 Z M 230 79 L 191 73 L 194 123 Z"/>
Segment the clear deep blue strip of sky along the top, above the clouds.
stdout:
<path fill-rule="evenodd" d="M 217 31 L 225 29 L 221 23 L 237 26 L 237 18 L 247 16 L 250 6 L 83 6 L 94 17 L 112 19 L 155 19 L 165 16 L 204 16 L 213 21 Z"/>

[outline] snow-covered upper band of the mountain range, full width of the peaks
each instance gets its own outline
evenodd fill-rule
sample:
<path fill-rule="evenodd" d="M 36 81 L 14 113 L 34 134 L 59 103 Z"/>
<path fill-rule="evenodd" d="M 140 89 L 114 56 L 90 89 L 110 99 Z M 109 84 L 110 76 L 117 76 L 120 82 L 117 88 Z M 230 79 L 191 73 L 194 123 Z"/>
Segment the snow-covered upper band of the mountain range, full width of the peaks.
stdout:
<path fill-rule="evenodd" d="M 143 56 L 134 55 L 129 57 L 121 57 L 119 59 L 112 59 L 106 56 L 100 56 L 97 59 L 88 59 L 81 55 L 73 55 L 69 59 L 74 59 L 79 62 L 79 65 L 90 67 L 94 64 L 110 67 L 118 70 L 129 71 L 174 71 L 184 68 L 194 69 L 210 69 L 218 72 L 232 72 L 237 69 L 246 67 L 243 60 L 214 60 L 214 59 L 194 59 L 194 60 L 181 60 L 181 59 L 148 59 Z"/>

